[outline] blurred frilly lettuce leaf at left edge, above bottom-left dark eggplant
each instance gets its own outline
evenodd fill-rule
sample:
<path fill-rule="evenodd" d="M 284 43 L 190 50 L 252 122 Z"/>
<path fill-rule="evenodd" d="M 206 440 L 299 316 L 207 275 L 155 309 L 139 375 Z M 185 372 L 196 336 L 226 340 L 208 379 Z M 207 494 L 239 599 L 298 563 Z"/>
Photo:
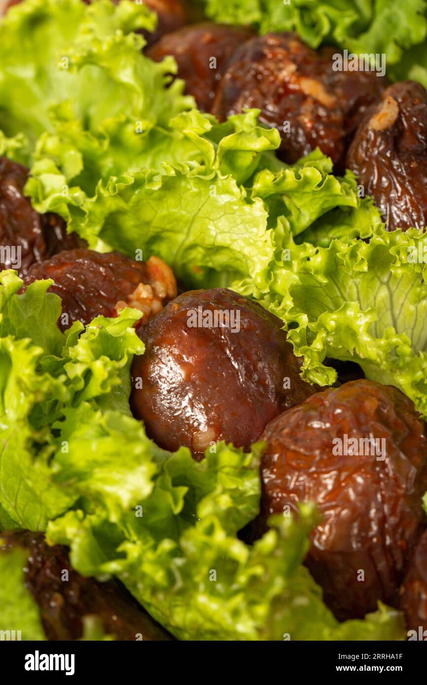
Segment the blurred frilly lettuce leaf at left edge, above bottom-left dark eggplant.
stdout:
<path fill-rule="evenodd" d="M 0 338 L 0 506 L 13 527 L 38 530 L 71 506 L 51 483 L 51 438 L 32 424 L 38 403 L 63 401 L 64 377 L 38 373 L 42 348 L 27 338 Z M 7 523 L 7 521 L 5 521 Z"/>

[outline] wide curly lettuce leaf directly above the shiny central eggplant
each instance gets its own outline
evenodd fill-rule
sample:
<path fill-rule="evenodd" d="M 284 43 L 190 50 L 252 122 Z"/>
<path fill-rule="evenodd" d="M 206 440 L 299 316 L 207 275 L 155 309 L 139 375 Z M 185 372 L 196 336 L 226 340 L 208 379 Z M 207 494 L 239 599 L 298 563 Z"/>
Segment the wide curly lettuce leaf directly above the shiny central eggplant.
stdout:
<path fill-rule="evenodd" d="M 260 127 L 257 116 L 249 110 L 219 125 L 182 112 L 169 128 L 193 146 L 192 160 L 101 179 L 95 195 L 74 185 L 80 180 L 66 162 L 68 147 L 56 138 L 57 152 L 35 162 L 26 191 L 38 211 L 61 214 L 94 249 L 156 254 L 188 287 L 249 275 L 260 287 L 276 250 L 270 229 L 278 216 L 296 235 L 336 208 L 356 212 L 361 199 L 354 177 L 332 176 L 332 162 L 318 150 L 294 166 L 275 160 L 278 132 Z"/>

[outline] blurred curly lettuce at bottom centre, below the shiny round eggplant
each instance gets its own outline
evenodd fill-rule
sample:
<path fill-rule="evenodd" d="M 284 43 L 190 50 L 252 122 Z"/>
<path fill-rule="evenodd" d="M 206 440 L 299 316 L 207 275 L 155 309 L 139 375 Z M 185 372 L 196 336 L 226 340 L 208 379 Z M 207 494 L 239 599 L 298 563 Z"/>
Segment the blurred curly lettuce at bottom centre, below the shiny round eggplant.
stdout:
<path fill-rule="evenodd" d="M 72 412 L 59 439 L 70 421 Z M 253 547 L 236 536 L 258 513 L 259 445 L 245 454 L 218 443 L 202 462 L 187 449 L 159 452 L 149 494 L 135 490 L 129 501 L 112 502 L 99 487 L 103 438 L 95 437 L 90 416 L 87 423 L 80 434 L 71 429 L 75 449 L 58 461 L 56 478 L 71 475 L 82 494 L 95 488 L 95 497 L 83 497 L 80 509 L 51 521 L 47 532 L 52 543 L 70 545 L 77 571 L 117 575 L 183 640 L 402 638 L 402 616 L 394 610 L 382 607 L 365 621 L 339 624 L 326 608 L 321 589 L 302 566 L 317 522 L 313 506 L 302 506 L 298 521 L 276 516 L 272 530 Z M 121 456 L 107 455 L 120 468 Z M 109 473 L 116 473 L 113 462 Z M 108 486 L 110 476 L 102 478 Z"/>

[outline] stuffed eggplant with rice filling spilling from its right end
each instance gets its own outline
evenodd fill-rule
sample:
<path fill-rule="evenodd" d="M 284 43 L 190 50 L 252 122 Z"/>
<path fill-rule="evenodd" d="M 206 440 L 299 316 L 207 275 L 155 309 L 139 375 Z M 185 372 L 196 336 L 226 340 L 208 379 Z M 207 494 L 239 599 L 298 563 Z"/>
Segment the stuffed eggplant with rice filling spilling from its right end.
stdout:
<path fill-rule="evenodd" d="M 55 282 L 49 291 L 62 299 L 62 316 L 58 321 L 62 330 L 73 321 L 86 325 L 95 316 L 116 316 L 126 306 L 141 310 L 143 323 L 176 295 L 171 269 L 154 256 L 147 262 L 134 262 L 117 252 L 64 251 L 34 264 L 24 283 L 28 286 L 48 278 Z"/>

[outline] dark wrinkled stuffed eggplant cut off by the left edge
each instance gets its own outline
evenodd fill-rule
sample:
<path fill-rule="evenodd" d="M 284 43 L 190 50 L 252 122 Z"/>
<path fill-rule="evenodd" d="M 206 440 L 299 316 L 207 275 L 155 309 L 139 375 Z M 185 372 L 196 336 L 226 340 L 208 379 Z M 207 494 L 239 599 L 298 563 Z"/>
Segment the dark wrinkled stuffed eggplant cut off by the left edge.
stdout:
<path fill-rule="evenodd" d="M 66 234 L 60 216 L 32 208 L 24 195 L 27 178 L 25 166 L 0 157 L 0 271 L 17 269 L 21 277 L 32 264 L 83 244 Z"/>

